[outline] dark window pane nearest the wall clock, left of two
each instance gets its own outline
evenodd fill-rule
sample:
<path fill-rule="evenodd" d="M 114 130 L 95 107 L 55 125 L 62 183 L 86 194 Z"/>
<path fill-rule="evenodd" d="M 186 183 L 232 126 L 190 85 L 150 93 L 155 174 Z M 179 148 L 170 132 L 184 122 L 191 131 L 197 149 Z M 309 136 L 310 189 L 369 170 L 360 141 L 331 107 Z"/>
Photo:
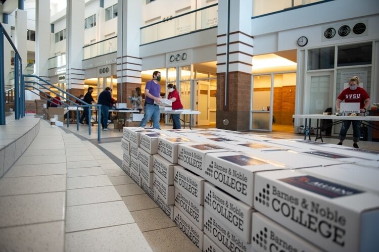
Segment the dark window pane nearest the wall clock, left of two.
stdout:
<path fill-rule="evenodd" d="M 335 47 L 308 50 L 308 70 L 334 68 Z"/>

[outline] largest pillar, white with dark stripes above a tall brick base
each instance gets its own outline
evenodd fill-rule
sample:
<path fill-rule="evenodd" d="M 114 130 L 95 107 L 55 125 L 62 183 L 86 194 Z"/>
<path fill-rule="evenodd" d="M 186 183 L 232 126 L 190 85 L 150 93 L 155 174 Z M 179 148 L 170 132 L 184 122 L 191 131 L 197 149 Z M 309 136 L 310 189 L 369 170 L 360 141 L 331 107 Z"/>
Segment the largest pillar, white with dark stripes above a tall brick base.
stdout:
<path fill-rule="evenodd" d="M 250 128 L 251 10 L 251 0 L 218 2 L 217 128 L 241 131 Z"/>

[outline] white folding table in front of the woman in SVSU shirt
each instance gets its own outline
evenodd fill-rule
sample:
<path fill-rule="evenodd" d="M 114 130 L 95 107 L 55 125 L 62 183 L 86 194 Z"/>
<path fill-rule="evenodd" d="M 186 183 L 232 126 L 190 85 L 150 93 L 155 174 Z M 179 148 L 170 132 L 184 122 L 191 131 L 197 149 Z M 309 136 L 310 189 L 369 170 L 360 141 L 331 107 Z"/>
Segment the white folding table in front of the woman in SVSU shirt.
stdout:
<path fill-rule="evenodd" d="M 374 130 L 378 130 L 378 128 L 372 122 L 379 121 L 379 116 L 336 116 L 336 115 L 326 116 L 326 115 L 321 115 L 321 114 L 310 114 L 310 115 L 292 115 L 292 117 L 298 118 L 298 119 L 305 119 L 305 129 L 307 129 L 307 126 L 308 126 L 307 119 L 309 119 L 308 130 L 311 127 L 311 119 L 317 119 L 317 127 L 315 128 L 316 138 L 314 140 L 317 141 L 317 139 L 321 139 L 322 142 L 323 140 L 322 140 L 322 135 L 321 135 L 321 129 L 323 127 L 333 126 L 333 125 L 342 123 L 345 120 L 350 120 L 350 121 L 365 122 L 364 124 L 367 125 L 368 127 L 371 127 Z M 337 120 L 337 121 L 325 126 L 325 125 L 321 125 L 321 123 L 319 124 L 319 120 L 322 120 L 322 119 Z M 308 135 L 309 140 L 311 140 L 310 134 L 307 134 L 307 133 L 308 133 L 307 130 L 305 130 L 304 139 L 306 139 Z"/>

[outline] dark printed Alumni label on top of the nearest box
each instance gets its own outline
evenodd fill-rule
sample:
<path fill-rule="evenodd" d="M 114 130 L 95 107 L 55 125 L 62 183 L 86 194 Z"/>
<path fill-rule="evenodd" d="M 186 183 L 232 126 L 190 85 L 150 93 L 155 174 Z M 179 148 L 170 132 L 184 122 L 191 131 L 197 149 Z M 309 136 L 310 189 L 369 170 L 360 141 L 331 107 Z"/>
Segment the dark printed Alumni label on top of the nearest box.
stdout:
<path fill-rule="evenodd" d="M 351 187 L 336 184 L 313 176 L 299 176 L 279 180 L 328 198 L 349 196 L 363 192 L 360 190 L 353 189 Z"/>

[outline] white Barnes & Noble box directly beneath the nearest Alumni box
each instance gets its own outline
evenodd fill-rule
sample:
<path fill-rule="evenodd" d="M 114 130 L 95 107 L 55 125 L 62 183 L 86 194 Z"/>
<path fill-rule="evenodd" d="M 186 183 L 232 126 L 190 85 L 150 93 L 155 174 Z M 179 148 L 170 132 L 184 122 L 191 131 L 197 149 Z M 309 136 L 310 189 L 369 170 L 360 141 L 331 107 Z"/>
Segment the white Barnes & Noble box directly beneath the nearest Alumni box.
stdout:
<path fill-rule="evenodd" d="M 290 230 L 266 218 L 261 213 L 253 213 L 252 227 L 252 246 L 254 251 L 322 251 Z"/>

